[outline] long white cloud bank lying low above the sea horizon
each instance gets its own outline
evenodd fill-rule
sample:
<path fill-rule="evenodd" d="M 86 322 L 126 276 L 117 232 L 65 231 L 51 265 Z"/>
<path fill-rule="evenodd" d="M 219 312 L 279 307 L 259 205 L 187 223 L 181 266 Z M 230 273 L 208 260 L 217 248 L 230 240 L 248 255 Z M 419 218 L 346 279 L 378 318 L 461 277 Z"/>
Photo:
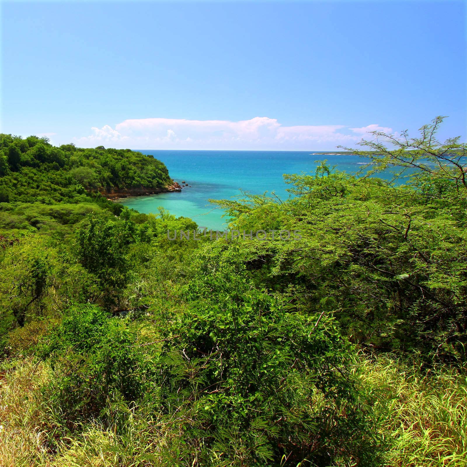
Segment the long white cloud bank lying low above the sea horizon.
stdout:
<path fill-rule="evenodd" d="M 85 147 L 101 144 L 132 149 L 335 149 L 358 142 L 368 131 L 389 131 L 376 124 L 362 128 L 345 125 L 285 126 L 276 119 L 250 120 L 131 119 L 115 128 L 92 127 L 89 136 L 74 138 Z"/>

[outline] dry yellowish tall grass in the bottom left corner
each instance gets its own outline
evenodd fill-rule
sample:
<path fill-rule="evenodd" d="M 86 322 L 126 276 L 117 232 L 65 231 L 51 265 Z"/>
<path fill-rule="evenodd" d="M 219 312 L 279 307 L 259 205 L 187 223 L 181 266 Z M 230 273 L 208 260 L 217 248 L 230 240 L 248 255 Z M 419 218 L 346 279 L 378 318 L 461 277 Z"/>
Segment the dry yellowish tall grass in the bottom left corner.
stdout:
<path fill-rule="evenodd" d="M 177 466 L 179 433 L 158 414 L 113 403 L 101 420 L 70 427 L 50 399 L 53 379 L 33 357 L 0 366 L 0 467 Z"/>

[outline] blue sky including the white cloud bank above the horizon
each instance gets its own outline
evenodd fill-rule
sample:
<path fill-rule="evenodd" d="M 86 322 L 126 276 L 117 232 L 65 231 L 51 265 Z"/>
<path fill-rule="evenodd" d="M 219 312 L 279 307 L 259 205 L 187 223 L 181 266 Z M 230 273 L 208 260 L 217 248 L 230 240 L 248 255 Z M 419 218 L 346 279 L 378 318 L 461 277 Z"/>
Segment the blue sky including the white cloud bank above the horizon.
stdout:
<path fill-rule="evenodd" d="M 131 149 L 466 134 L 466 3 L 2 2 L 1 131 Z"/>

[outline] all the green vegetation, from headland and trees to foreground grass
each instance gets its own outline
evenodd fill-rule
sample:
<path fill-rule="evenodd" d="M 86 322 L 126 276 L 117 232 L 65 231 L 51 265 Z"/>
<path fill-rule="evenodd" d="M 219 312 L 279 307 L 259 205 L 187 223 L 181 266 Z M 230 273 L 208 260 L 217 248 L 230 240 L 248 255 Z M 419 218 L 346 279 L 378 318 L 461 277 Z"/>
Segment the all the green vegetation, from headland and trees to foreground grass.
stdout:
<path fill-rule="evenodd" d="M 71 159 L 99 186 L 161 163 L 15 163 L 29 140 L 67 153 L 2 135 L 0 464 L 465 466 L 466 152 L 436 141 L 441 120 L 355 151 L 372 175 L 410 168 L 404 184 L 322 162 L 285 176 L 287 200 L 216 201 L 241 234 L 199 241 L 85 180 L 45 186 Z"/>

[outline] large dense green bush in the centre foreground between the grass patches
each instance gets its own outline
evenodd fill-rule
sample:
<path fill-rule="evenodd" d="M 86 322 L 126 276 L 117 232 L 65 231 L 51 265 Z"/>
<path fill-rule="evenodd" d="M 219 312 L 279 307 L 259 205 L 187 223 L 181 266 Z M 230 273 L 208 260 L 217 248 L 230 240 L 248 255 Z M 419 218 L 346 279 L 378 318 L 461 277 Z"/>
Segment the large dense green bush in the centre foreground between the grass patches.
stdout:
<path fill-rule="evenodd" d="M 161 320 L 158 379 L 198 462 L 375 465 L 370 400 L 332 316 L 253 288 L 228 254 L 193 268 L 190 304 Z"/>

